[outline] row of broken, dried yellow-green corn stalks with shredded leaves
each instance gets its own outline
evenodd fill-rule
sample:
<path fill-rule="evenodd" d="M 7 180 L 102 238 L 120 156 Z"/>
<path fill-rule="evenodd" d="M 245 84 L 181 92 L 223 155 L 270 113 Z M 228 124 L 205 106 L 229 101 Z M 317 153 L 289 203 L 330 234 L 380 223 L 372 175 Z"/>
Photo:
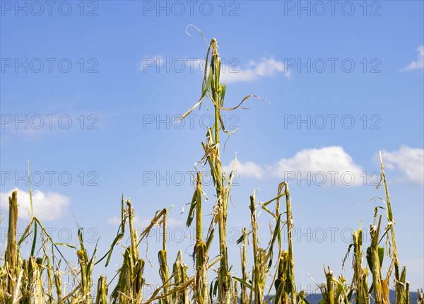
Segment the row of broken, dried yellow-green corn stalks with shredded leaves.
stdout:
<path fill-rule="evenodd" d="M 208 304 L 208 303 L 240 303 L 240 304 L 309 304 L 305 291 L 297 290 L 295 283 L 295 248 L 293 248 L 293 214 L 291 211 L 289 185 L 283 181 L 276 185 L 276 194 L 266 202 L 257 200 L 255 193 L 246 197 L 245 205 L 249 206 L 250 223 L 242 228 L 242 235 L 237 244 L 240 246 L 241 272 L 234 273 L 228 261 L 227 214 L 230 201 L 230 190 L 237 168 L 234 161 L 232 172 L 227 176 L 221 164 L 220 135 L 232 134 L 225 129 L 221 112 L 242 109 L 248 98 L 259 98 L 247 95 L 235 107 L 225 107 L 225 84 L 220 83 L 221 61 L 216 39 L 212 39 L 206 54 L 204 79 L 201 96 L 197 103 L 189 109 L 184 119 L 196 108 L 201 107 L 203 100 L 213 103 L 214 124 L 209 128 L 206 139 L 201 143 L 203 158 L 201 165 L 208 167 L 213 178 L 216 201 L 212 209 L 204 209 L 205 192 L 202 186 L 202 173 L 193 173 L 196 187 L 189 210 L 186 214 L 187 227 L 196 229 L 194 245 L 194 275 L 189 276 L 189 266 L 184 263 L 182 252 L 177 257 L 167 255 L 167 214 L 169 209 L 156 211 L 150 225 L 141 231 L 134 228 L 134 209 L 131 200 L 121 199 L 121 223 L 110 250 L 99 255 L 88 252 L 83 243 L 82 230 L 78 230 L 78 245 L 58 243 L 53 240 L 41 221 L 33 216 L 23 235 L 17 237 L 18 192 L 8 198 L 8 230 L 6 250 L 1 255 L 0 268 L 0 303 L 160 303 L 160 304 Z M 261 98 L 259 98 L 261 99 Z M 389 291 L 394 289 L 396 304 L 409 304 L 410 286 L 407 281 L 406 267 L 401 264 L 396 248 L 394 214 L 391 210 L 389 189 L 382 155 L 381 180 L 379 186 L 384 189 L 385 198 L 379 208 L 375 208 L 373 222 L 370 223 L 370 244 L 363 243 L 363 230 L 358 228 L 352 235 L 352 244 L 346 248 L 352 257 L 353 277 L 337 276 L 329 267 L 324 267 L 326 283 L 318 284 L 322 293 L 320 304 L 357 303 L 387 304 Z M 377 187 L 378 188 L 378 187 Z M 31 191 L 29 192 L 31 202 Z M 296 204 L 296 202 L 293 202 Z M 32 203 L 31 203 L 32 209 Z M 264 211 L 273 223 L 269 240 L 259 242 L 259 226 L 257 217 Z M 206 215 L 204 215 L 207 213 Z M 204 222 L 206 218 L 211 219 Z M 141 243 L 148 238 L 153 227 L 163 229 L 163 247 L 158 252 L 161 284 L 149 298 L 143 297 L 143 289 L 148 284 L 144 275 L 146 261 L 141 257 Z M 207 228 L 206 238 L 202 234 Z M 285 228 L 287 235 L 283 235 Z M 37 238 L 41 233 L 41 238 Z M 34 237 L 35 234 L 35 237 Z M 23 255 L 20 247 L 32 241 L 28 257 Z M 112 252 L 124 239 L 129 237 L 130 244 L 122 252 L 122 264 L 114 279 L 108 281 L 105 276 L 93 278 L 93 269 L 102 263 L 110 264 Z M 42 242 L 37 242 L 37 240 Z M 287 240 L 287 242 L 283 242 Z M 266 244 L 261 246 L 260 244 Z M 249 245 L 252 252 L 248 252 Z M 97 247 L 97 246 L 96 246 Z M 219 249 L 218 257 L 211 257 L 211 247 Z M 78 267 L 71 267 L 62 252 L 73 250 Z M 247 264 L 247 257 L 253 264 Z M 389 259 L 389 269 L 382 269 L 383 259 Z M 172 263 L 172 261 L 174 261 Z M 66 269 L 66 270 L 65 270 Z M 73 278 L 71 290 L 62 290 L 64 275 Z M 213 274 L 214 278 L 208 281 Z M 266 283 L 272 278 L 271 285 Z M 391 281 L 391 279 L 393 279 Z M 91 292 L 91 286 L 97 284 L 97 292 Z M 418 304 L 423 304 L 423 291 L 418 290 Z"/>

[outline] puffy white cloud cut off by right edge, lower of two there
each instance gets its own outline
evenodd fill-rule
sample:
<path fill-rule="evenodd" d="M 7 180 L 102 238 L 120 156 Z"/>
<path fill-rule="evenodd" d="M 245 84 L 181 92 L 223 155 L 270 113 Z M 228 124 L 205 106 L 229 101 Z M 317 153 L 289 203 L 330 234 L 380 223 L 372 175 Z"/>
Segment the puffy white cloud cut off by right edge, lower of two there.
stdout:
<path fill-rule="evenodd" d="M 404 176 L 396 182 L 424 186 L 424 149 L 402 146 L 398 151 L 382 151 L 384 166 L 400 170 Z"/>

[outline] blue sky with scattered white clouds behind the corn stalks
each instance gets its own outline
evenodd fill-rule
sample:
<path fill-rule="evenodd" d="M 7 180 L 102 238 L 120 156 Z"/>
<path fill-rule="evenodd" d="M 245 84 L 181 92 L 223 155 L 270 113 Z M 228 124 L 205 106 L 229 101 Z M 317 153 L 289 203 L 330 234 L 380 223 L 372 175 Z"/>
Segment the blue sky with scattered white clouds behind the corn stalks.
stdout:
<path fill-rule="evenodd" d="M 370 199 L 384 196 L 375 190 L 381 150 L 399 258 L 411 288 L 422 287 L 423 10 L 423 1 L 1 1 L 1 213 L 15 187 L 26 197 L 30 160 L 35 213 L 53 237 L 76 242 L 76 218 L 88 247 L 100 237 L 101 255 L 116 233 L 123 192 L 140 229 L 174 205 L 168 259 L 180 249 L 191 267 L 193 242 L 178 235 L 187 216 L 180 212 L 212 113 L 204 103 L 184 125 L 172 117 L 201 93 L 207 45 L 187 29 L 193 24 L 218 40 L 226 105 L 248 94 L 266 100 L 225 113 L 229 129 L 240 127 L 223 153 L 226 168 L 237 153 L 231 239 L 249 228 L 253 190 L 266 201 L 287 180 L 297 283 L 313 288 L 308 273 L 324 281 L 324 264 L 340 273 L 349 233 L 361 219 L 369 233 L 379 204 Z M 214 200 L 206 190 L 205 213 Z M 22 203 L 22 228 L 26 214 Z M 259 217 L 264 246 L 269 221 Z M 148 244 L 153 284 L 160 244 L 156 236 Z M 239 249 L 228 247 L 240 274 Z M 111 279 L 120 258 L 117 250 L 96 275 Z"/>

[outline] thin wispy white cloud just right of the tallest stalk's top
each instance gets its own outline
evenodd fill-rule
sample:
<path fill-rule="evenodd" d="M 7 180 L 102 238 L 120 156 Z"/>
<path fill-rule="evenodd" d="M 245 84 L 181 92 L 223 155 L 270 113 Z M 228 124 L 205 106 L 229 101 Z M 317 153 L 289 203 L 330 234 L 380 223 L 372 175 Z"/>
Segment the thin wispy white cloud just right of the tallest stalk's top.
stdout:
<path fill-rule="evenodd" d="M 247 69 L 241 69 L 238 66 L 223 66 L 220 74 L 220 80 L 223 83 L 248 82 L 255 81 L 259 78 L 276 76 L 283 73 L 290 78 L 288 71 L 283 62 L 278 62 L 273 57 L 262 57 L 260 62 L 250 61 Z"/>

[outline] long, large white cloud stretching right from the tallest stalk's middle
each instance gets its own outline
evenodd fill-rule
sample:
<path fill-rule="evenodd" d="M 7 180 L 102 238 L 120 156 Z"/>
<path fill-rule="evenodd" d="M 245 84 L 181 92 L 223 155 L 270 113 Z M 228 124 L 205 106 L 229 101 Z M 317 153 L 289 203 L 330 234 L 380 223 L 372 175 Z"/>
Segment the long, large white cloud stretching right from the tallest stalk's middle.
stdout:
<path fill-rule="evenodd" d="M 232 163 L 223 168 L 230 172 Z M 298 185 L 363 185 L 362 168 L 341 146 L 305 149 L 292 158 L 281 158 L 273 165 L 237 161 L 235 171 L 240 177 L 278 177 L 287 182 L 297 181 Z"/>

